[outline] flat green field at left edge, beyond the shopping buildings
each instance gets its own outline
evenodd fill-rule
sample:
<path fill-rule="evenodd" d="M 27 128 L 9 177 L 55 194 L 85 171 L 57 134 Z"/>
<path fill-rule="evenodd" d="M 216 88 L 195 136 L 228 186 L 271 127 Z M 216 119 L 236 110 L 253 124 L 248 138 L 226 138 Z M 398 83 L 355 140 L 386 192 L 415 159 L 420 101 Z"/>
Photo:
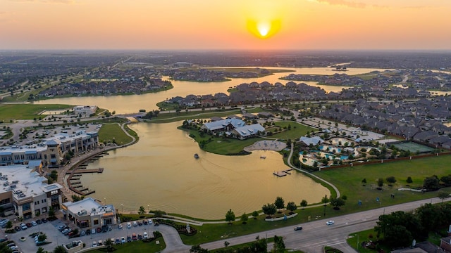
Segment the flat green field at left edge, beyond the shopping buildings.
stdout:
<path fill-rule="evenodd" d="M 44 110 L 61 110 L 69 108 L 73 108 L 73 105 L 0 105 L 0 121 L 9 122 L 13 119 L 33 119 L 35 117 L 45 117 L 45 115 L 39 115 L 39 113 Z"/>

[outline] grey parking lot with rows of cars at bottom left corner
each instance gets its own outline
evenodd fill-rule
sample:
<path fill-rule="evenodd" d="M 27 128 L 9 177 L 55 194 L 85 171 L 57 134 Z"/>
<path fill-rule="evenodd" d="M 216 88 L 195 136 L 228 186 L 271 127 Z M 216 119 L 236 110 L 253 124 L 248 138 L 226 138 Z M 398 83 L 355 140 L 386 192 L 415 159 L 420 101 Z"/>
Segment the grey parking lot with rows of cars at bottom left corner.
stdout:
<path fill-rule="evenodd" d="M 14 226 L 18 226 L 20 223 L 13 223 Z M 149 237 L 153 237 L 153 232 L 158 231 L 159 226 L 152 225 L 142 225 L 142 226 L 131 226 L 131 228 L 127 228 L 127 223 L 121 223 L 122 229 L 118 228 L 118 225 L 111 226 L 111 231 L 101 232 L 101 233 L 94 233 L 90 235 L 82 235 L 78 238 L 68 238 L 68 236 L 63 235 L 60 231 L 58 231 L 59 226 L 66 226 L 67 223 L 56 220 L 56 221 L 49 221 L 47 223 L 41 223 L 37 226 L 32 226 L 30 228 L 27 228 L 26 230 L 21 230 L 13 234 L 5 234 L 4 229 L 2 230 L 4 235 L 7 235 L 8 240 L 13 240 L 16 242 L 16 245 L 18 246 L 18 250 L 20 252 L 36 252 L 38 246 L 35 244 L 35 240 L 30 237 L 32 233 L 45 233 L 47 235 L 47 241 L 51 242 L 47 245 L 42 245 L 41 247 L 44 248 L 44 250 L 47 250 L 49 252 L 53 251 L 54 248 L 58 245 L 64 245 L 69 242 L 75 241 L 75 240 L 82 240 L 82 242 L 85 242 L 86 247 L 92 247 L 93 242 L 99 242 L 101 240 L 104 242 L 107 238 L 113 238 L 116 240 L 116 238 L 124 237 L 125 240 L 128 236 L 132 236 L 133 233 L 136 235 L 143 235 L 144 232 L 146 232 Z M 73 224 L 69 224 L 71 228 L 75 228 Z M 85 230 L 86 231 L 86 230 Z M 25 238 L 25 241 L 20 240 L 21 237 Z"/>

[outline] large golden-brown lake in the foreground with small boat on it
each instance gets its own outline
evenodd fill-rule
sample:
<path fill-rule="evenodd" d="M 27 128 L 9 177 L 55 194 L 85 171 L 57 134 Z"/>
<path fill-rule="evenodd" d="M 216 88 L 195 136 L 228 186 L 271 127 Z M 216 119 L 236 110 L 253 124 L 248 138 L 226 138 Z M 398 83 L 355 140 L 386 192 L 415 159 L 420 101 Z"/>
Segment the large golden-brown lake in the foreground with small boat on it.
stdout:
<path fill-rule="evenodd" d="M 288 169 L 272 151 L 228 157 L 199 149 L 181 122 L 132 124 L 140 141 L 110 152 L 88 168 L 104 167 L 103 174 L 84 174 L 90 195 L 121 211 L 140 206 L 204 219 L 224 219 L 228 209 L 236 216 L 252 213 L 283 197 L 285 204 L 301 200 L 320 202 L 330 192 L 307 176 L 292 171 L 278 178 L 273 171 Z M 194 159 L 194 153 L 200 158 Z M 260 156 L 265 155 L 266 159 Z"/>

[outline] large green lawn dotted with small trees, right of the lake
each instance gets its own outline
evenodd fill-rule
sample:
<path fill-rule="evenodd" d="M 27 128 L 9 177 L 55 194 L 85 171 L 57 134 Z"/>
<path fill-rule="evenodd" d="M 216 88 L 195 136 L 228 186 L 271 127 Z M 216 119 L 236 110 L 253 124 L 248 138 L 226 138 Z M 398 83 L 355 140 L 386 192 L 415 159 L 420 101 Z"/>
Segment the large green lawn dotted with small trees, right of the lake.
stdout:
<path fill-rule="evenodd" d="M 442 155 L 440 157 L 427 157 L 417 160 L 330 169 L 317 171 L 315 174 L 335 184 L 342 195 L 348 197 L 346 206 L 343 209 L 352 209 L 354 212 L 358 212 L 373 209 L 379 207 L 379 205 L 384 207 L 426 197 L 436 197 L 438 195 L 437 192 L 422 194 L 412 191 L 400 191 L 397 188 L 421 187 L 424 179 L 434 174 L 439 178 L 447 176 L 451 174 L 450 162 L 451 155 Z M 393 186 L 388 186 L 388 183 L 385 181 L 388 176 L 395 176 L 397 182 L 393 183 Z M 408 176 L 412 177 L 413 183 L 406 186 Z M 383 190 L 376 189 L 376 181 L 379 178 L 385 181 L 382 187 Z M 366 179 L 367 183 L 362 183 L 363 179 Z M 391 194 L 394 194 L 395 198 L 392 198 Z M 380 202 L 376 202 L 376 197 L 379 197 Z M 357 204 L 358 200 L 362 200 L 362 206 Z"/>

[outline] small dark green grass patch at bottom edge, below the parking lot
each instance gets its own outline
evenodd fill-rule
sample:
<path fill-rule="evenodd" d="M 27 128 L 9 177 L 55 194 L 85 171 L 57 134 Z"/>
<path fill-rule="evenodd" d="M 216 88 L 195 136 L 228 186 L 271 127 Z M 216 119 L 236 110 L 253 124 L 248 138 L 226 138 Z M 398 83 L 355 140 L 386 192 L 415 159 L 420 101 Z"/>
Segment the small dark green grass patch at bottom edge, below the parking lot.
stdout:
<path fill-rule="evenodd" d="M 156 244 L 156 241 L 159 241 L 159 244 Z M 90 247 L 89 243 L 87 242 L 87 247 Z M 152 253 L 152 252 L 160 252 L 161 250 L 166 248 L 166 243 L 164 242 L 163 238 L 158 238 L 157 240 L 154 240 L 152 242 L 142 242 L 142 241 L 136 241 L 136 242 L 127 242 L 123 245 L 113 245 L 113 248 L 116 249 L 114 252 L 121 253 L 121 252 L 133 252 L 133 253 Z M 89 250 L 88 252 L 106 252 L 106 249 L 93 249 Z"/>

